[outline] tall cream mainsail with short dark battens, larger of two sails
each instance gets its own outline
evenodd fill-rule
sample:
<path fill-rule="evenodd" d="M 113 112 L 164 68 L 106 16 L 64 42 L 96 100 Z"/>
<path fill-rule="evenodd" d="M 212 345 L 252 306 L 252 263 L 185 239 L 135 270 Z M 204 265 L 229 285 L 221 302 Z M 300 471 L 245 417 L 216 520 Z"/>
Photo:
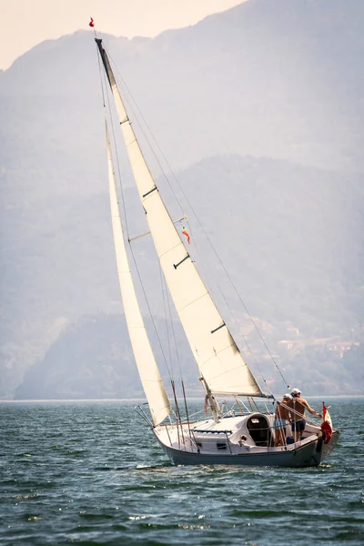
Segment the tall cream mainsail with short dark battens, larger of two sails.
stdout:
<path fill-rule="evenodd" d="M 207 291 L 159 195 L 136 140 L 102 40 L 96 44 L 106 70 L 136 180 L 167 287 L 207 388 L 215 394 L 264 396 Z"/>

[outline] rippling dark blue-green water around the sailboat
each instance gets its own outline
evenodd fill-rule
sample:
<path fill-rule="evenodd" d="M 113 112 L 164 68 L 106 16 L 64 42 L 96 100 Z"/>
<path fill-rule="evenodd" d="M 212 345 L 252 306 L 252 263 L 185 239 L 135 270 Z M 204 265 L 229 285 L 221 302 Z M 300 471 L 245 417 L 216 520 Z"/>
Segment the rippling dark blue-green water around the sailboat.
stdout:
<path fill-rule="evenodd" d="M 298 470 L 174 467 L 131 403 L 0 403 L 0 544 L 363 544 L 364 400 L 329 403 Z"/>

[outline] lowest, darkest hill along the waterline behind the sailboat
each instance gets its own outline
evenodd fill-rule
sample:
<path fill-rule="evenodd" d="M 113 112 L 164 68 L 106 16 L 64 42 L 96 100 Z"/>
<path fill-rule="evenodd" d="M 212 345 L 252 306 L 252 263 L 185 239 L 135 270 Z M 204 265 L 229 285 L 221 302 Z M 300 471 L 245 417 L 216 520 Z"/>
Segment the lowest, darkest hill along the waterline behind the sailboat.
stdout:
<path fill-rule="evenodd" d="M 166 336 L 162 336 L 162 348 L 167 356 L 166 363 L 157 339 L 154 339 L 150 322 L 147 321 L 147 324 L 169 395 L 173 397 L 170 379 L 174 379 L 177 396 L 182 396 L 182 369 L 187 397 L 199 396 L 202 404 L 203 391 L 197 380 L 197 367 L 187 349 L 186 340 L 177 329 L 178 364 L 175 350 L 170 361 L 167 339 Z M 163 330 L 160 320 L 158 327 Z M 263 334 L 267 335 L 268 331 L 263 329 Z M 250 342 L 251 336 L 248 339 Z M 305 393 L 310 395 L 362 393 L 363 344 L 359 347 L 354 345 L 346 350 L 344 355 L 332 351 L 333 345 L 329 342 L 311 343 L 305 347 L 299 343 L 292 352 L 287 350 L 287 347 L 279 347 L 279 343 L 278 345 L 273 343 L 271 349 L 280 351 L 278 362 L 281 370 L 292 385 L 298 384 Z M 248 353 L 246 357 L 265 390 L 267 386 L 263 383 L 260 372 L 273 392 L 278 393 L 286 389 L 275 366 L 264 358 L 262 351 L 256 353 L 256 362 L 252 362 Z M 107 398 L 145 398 L 127 339 L 125 321 L 118 315 L 84 317 L 77 324 L 70 325 L 46 351 L 45 357 L 27 369 L 25 378 L 15 389 L 15 399 Z"/>

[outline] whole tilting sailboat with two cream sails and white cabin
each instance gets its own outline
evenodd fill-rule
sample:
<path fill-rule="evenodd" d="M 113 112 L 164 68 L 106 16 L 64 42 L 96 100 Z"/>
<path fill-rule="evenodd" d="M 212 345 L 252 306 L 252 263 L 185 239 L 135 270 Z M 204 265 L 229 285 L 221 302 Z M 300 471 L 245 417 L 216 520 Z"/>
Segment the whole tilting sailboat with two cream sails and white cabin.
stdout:
<path fill-rule="evenodd" d="M 91 25 L 93 26 L 93 25 Z M 275 446 L 271 411 L 274 397 L 265 393 L 249 369 L 226 321 L 197 271 L 187 245 L 167 211 L 154 178 L 147 166 L 136 133 L 126 111 L 126 102 L 116 83 L 109 56 L 102 39 L 95 33 L 100 74 L 108 93 L 114 98 L 118 122 L 124 137 L 137 192 L 144 209 L 160 268 L 163 271 L 178 319 L 185 331 L 199 381 L 205 391 L 207 415 L 198 420 L 188 417 L 184 400 L 182 419 L 174 383 L 171 404 L 161 378 L 147 329 L 139 308 L 136 289 L 127 257 L 127 240 L 120 216 L 113 164 L 113 147 L 106 123 L 106 147 L 111 218 L 116 249 L 116 264 L 126 316 L 127 329 L 136 366 L 144 388 L 150 416 L 143 406 L 136 410 L 152 430 L 157 442 L 173 464 L 253 465 L 307 467 L 318 466 L 329 456 L 339 430 L 325 434 L 318 424 L 308 423 L 301 438 L 294 440 L 291 426 Z M 104 89 L 104 87 L 103 87 Z M 104 94 L 104 90 L 103 90 Z M 105 108 L 104 97 L 104 108 Z M 218 397 L 231 399 L 234 408 L 221 405 Z M 262 409 L 263 404 L 263 409 Z M 269 404 L 269 407 L 268 407 Z M 172 409 L 174 407 L 174 409 Z M 270 408 L 270 409 L 269 409 Z M 328 425 L 329 426 L 329 425 Z"/>

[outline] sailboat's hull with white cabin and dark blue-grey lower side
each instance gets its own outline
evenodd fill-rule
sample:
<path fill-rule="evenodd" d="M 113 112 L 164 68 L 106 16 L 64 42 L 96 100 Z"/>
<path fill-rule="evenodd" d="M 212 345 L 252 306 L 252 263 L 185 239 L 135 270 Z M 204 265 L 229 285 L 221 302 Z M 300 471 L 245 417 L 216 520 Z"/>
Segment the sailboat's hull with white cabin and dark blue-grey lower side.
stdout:
<path fill-rule="evenodd" d="M 260 429 L 251 429 L 258 420 Z M 158 442 L 173 464 L 186 465 L 244 465 L 244 466 L 319 466 L 329 456 L 338 439 L 335 430 L 328 444 L 323 442 L 319 427 L 308 425 L 302 440 L 274 447 L 272 415 L 249 414 L 220 420 L 159 425 L 153 429 Z M 267 426 L 266 426 L 267 423 Z M 249 429 L 250 425 L 250 429 Z M 287 427 L 288 441 L 290 427 Z M 247 440 L 239 440 L 245 435 Z"/>

